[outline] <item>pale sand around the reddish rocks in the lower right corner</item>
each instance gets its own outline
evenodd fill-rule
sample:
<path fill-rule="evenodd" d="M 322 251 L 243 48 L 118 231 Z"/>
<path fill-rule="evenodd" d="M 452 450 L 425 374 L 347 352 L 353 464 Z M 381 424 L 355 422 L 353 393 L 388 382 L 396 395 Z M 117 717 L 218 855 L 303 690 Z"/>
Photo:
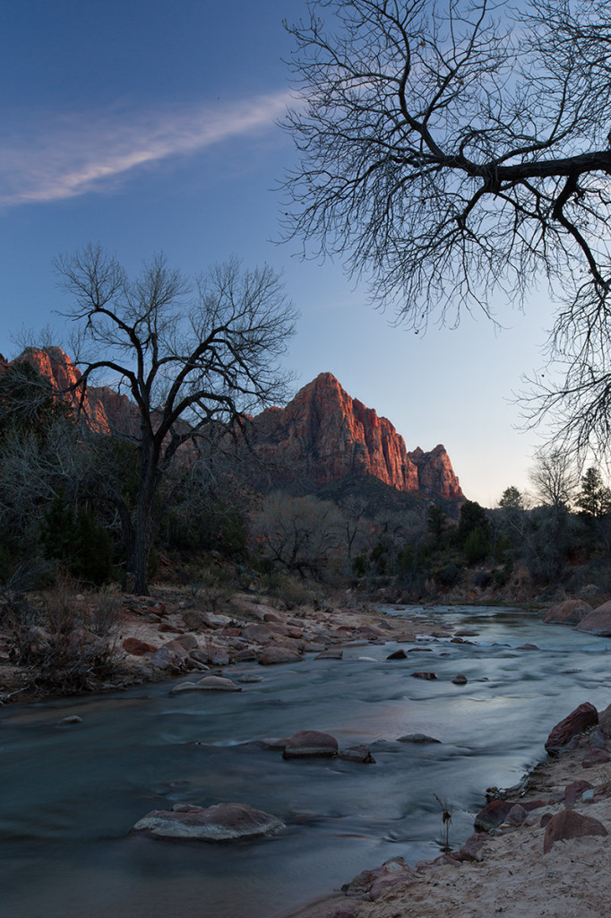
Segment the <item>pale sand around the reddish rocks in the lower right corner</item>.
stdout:
<path fill-rule="evenodd" d="M 523 799 L 545 800 L 545 807 L 518 828 L 485 836 L 481 861 L 423 868 L 413 882 L 398 883 L 377 901 L 337 896 L 295 918 L 608 918 L 611 835 L 557 841 L 543 853 L 541 816 L 564 809 L 555 796 L 575 780 L 589 781 L 595 793 L 572 809 L 611 833 L 611 763 L 583 768 L 586 751 L 563 753 L 534 770 Z"/>

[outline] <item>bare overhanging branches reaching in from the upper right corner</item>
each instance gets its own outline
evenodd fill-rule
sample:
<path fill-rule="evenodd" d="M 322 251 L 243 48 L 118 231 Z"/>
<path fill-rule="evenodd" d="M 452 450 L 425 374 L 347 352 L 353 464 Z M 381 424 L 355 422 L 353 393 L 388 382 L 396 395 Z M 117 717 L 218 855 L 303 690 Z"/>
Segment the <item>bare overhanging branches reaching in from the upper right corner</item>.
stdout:
<path fill-rule="evenodd" d="M 611 282 L 606 0 L 311 0 L 285 232 L 415 329 L 547 278 L 593 335 Z"/>

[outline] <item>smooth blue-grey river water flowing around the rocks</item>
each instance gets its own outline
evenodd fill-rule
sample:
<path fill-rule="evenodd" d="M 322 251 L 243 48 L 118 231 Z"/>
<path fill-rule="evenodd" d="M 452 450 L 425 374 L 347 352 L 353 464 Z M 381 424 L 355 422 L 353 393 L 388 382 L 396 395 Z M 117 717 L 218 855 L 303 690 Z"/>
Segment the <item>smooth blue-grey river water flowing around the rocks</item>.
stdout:
<path fill-rule="evenodd" d="M 389 857 L 437 856 L 436 795 L 454 808 L 450 844 L 461 845 L 486 787 L 515 784 L 579 703 L 611 702 L 610 641 L 516 610 L 405 614 L 477 636 L 423 636 L 396 661 L 390 643 L 347 645 L 341 661 L 236 666 L 233 678 L 261 676 L 240 693 L 172 696 L 164 683 L 0 711 L 2 914 L 276 918 Z M 452 684 L 458 673 L 466 686 Z M 71 714 L 83 722 L 58 726 Z M 376 764 L 286 761 L 248 745 L 302 729 L 367 744 Z M 406 733 L 441 743 L 394 742 Z M 286 829 L 239 845 L 129 834 L 177 801 L 249 803 Z"/>

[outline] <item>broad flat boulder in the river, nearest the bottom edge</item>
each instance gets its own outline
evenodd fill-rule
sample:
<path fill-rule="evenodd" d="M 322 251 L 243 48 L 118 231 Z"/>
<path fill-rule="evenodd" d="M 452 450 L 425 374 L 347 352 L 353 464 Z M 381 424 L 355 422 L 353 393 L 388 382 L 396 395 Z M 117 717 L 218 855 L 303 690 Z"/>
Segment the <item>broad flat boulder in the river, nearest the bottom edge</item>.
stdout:
<path fill-rule="evenodd" d="M 183 838 L 202 842 L 234 842 L 279 832 L 284 823 L 246 803 L 217 803 L 203 807 L 177 804 L 172 810 L 153 810 L 133 827 L 153 838 Z"/>

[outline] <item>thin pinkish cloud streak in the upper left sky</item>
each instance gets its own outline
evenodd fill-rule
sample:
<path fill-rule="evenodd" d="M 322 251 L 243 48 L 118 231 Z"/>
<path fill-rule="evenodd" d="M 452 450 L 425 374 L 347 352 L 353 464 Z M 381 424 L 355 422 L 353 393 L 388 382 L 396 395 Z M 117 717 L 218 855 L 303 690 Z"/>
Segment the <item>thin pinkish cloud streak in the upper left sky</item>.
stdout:
<path fill-rule="evenodd" d="M 0 206 L 104 191 L 139 167 L 272 127 L 287 92 L 189 110 L 115 109 L 37 121 L 0 141 Z"/>

